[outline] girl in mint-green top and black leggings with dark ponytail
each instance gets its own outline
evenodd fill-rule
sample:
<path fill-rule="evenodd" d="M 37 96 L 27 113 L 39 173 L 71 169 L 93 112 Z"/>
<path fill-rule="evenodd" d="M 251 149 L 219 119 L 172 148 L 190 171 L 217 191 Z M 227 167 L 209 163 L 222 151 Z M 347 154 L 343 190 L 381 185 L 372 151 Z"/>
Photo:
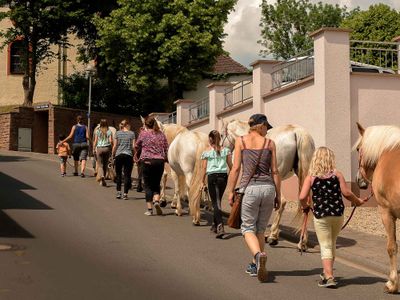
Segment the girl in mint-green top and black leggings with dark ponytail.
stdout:
<path fill-rule="evenodd" d="M 222 222 L 221 199 L 225 192 L 228 180 L 228 167 L 232 169 L 232 156 L 228 148 L 221 147 L 221 135 L 217 130 L 208 134 L 210 147 L 201 155 L 203 160 L 203 188 L 208 183 L 208 192 L 213 204 L 214 219 L 211 231 L 216 233 L 216 238 L 225 234 Z"/>

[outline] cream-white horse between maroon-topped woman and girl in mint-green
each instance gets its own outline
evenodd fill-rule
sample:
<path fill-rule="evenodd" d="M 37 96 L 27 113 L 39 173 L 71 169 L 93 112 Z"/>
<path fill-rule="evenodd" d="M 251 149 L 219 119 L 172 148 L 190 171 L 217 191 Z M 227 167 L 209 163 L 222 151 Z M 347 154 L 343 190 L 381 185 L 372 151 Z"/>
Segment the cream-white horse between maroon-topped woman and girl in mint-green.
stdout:
<path fill-rule="evenodd" d="M 181 199 L 188 191 L 189 210 L 193 224 L 200 224 L 201 201 L 201 153 L 208 146 L 208 137 L 202 132 L 182 131 L 171 142 L 168 150 L 168 162 L 176 174 L 175 195 L 177 195 L 176 214 L 182 215 Z"/>

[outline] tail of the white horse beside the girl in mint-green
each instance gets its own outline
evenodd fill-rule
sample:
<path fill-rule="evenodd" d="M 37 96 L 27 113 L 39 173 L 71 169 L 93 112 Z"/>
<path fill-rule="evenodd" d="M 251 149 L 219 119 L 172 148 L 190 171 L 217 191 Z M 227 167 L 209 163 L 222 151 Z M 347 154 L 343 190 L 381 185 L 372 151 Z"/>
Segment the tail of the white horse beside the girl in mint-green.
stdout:
<path fill-rule="evenodd" d="M 192 181 L 189 187 L 189 210 L 192 216 L 195 215 L 196 209 L 200 206 L 201 201 L 201 185 L 203 183 L 203 178 L 201 176 L 201 154 L 206 148 L 206 144 L 201 140 L 201 137 L 197 132 L 194 132 L 197 139 L 197 149 L 196 149 L 196 157 L 195 164 L 193 169 Z"/>

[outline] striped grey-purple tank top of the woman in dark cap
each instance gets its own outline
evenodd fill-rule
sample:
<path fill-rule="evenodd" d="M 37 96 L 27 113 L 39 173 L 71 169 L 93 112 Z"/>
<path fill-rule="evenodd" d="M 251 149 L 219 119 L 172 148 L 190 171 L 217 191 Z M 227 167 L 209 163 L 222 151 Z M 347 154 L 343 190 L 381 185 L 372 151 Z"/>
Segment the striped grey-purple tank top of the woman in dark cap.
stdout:
<path fill-rule="evenodd" d="M 254 176 L 250 179 L 250 185 L 264 185 L 266 183 L 273 183 L 271 175 L 271 159 L 272 152 L 268 149 L 270 140 L 266 143 L 266 148 L 264 149 L 247 149 L 242 138 L 243 150 L 242 150 L 242 178 L 240 180 L 240 188 L 246 186 L 247 181 L 251 173 L 253 172 L 254 165 L 257 163 L 258 155 L 260 151 L 261 154 L 260 163 L 257 166 Z"/>

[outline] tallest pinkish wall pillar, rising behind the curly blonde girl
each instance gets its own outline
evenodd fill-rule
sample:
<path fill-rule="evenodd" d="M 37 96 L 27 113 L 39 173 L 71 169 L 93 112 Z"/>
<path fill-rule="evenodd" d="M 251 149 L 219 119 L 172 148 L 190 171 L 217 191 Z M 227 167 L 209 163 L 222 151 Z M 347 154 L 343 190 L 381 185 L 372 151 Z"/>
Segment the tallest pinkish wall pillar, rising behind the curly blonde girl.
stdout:
<path fill-rule="evenodd" d="M 319 97 L 324 124 L 324 144 L 336 155 L 338 170 L 347 180 L 351 173 L 351 99 L 350 35 L 351 30 L 321 28 L 314 39 L 314 84 Z"/>

